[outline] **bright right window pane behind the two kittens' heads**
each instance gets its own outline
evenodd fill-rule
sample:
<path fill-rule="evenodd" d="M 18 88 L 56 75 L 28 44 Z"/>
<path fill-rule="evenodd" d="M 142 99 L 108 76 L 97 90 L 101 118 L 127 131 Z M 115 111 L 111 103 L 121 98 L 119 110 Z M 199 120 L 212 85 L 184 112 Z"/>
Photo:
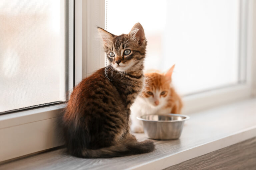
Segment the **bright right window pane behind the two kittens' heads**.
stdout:
<path fill-rule="evenodd" d="M 173 83 L 188 95 L 245 81 L 241 2 L 106 0 L 105 27 L 119 35 L 140 22 L 148 41 L 145 68 L 167 71 L 175 64 Z"/>

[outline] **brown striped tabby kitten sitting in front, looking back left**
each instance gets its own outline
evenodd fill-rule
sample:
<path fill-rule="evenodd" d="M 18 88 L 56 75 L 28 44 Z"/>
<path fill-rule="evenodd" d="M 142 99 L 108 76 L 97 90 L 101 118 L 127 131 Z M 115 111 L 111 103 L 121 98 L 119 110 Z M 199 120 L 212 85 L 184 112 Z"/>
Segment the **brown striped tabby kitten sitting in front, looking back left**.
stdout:
<path fill-rule="evenodd" d="M 129 132 L 130 106 L 144 86 L 144 30 L 137 23 L 120 36 L 98 31 L 110 65 L 74 88 L 63 116 L 67 150 L 84 158 L 151 152 L 152 141 L 138 142 Z"/>

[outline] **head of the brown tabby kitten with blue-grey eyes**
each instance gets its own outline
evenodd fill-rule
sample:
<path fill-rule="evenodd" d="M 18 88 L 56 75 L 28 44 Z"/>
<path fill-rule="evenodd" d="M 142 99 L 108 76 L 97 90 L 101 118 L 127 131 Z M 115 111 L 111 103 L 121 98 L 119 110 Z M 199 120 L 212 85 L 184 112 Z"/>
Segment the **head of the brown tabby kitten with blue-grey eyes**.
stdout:
<path fill-rule="evenodd" d="M 120 36 L 115 36 L 102 28 L 98 28 L 98 31 L 107 58 L 116 70 L 132 71 L 143 67 L 147 41 L 140 23 L 135 24 L 129 34 Z"/>

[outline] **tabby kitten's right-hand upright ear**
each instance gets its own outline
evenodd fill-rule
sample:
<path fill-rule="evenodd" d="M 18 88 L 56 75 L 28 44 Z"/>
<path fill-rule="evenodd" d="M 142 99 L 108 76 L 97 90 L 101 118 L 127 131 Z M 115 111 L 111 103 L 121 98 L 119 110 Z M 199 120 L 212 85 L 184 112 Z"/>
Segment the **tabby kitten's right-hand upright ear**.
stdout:
<path fill-rule="evenodd" d="M 140 45 L 141 44 L 146 45 L 146 38 L 145 38 L 144 29 L 143 29 L 143 27 L 141 26 L 140 23 L 136 23 L 132 27 L 129 35 L 131 37 L 133 37 L 134 39 L 136 39 Z"/>

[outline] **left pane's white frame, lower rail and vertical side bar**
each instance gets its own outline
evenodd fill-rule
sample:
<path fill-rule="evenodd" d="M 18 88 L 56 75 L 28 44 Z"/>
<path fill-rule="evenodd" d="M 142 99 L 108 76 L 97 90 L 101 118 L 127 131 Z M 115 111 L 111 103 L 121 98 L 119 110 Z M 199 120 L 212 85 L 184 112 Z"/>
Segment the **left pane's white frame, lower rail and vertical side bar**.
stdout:
<path fill-rule="evenodd" d="M 68 5 L 68 85 L 74 87 L 74 0 L 65 0 Z M 79 16 L 79 15 L 78 15 Z M 66 53 L 67 55 L 67 53 Z M 79 63 L 79 62 L 77 62 Z M 67 65 L 66 65 L 67 66 Z M 32 108 L 0 115 L 0 162 L 61 145 L 56 129 L 59 114 L 66 104 Z M 21 137 L 22 136 L 22 137 Z M 49 140 L 48 140 L 49 139 Z"/>

